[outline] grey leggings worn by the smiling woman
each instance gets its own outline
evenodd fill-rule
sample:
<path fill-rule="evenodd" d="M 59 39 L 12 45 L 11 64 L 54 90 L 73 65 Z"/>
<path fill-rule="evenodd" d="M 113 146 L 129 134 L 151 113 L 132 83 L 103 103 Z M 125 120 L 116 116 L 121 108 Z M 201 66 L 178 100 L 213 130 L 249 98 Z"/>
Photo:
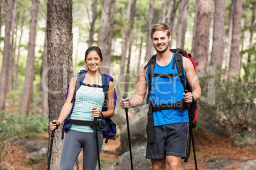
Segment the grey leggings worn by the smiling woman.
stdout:
<path fill-rule="evenodd" d="M 103 146 L 103 133 L 98 133 L 99 151 Z M 72 170 L 83 148 L 83 169 L 95 170 L 97 166 L 97 144 L 94 133 L 69 130 L 66 134 L 60 159 L 60 170 Z"/>

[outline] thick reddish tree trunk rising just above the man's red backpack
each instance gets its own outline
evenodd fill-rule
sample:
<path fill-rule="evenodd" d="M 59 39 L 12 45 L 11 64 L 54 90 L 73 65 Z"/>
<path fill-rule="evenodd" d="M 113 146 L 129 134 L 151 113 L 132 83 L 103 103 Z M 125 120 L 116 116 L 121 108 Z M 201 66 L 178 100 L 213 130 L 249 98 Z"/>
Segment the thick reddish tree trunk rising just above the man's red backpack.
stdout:
<path fill-rule="evenodd" d="M 209 32 L 212 0 L 197 0 L 192 56 L 197 70 L 206 68 L 209 51 Z"/>

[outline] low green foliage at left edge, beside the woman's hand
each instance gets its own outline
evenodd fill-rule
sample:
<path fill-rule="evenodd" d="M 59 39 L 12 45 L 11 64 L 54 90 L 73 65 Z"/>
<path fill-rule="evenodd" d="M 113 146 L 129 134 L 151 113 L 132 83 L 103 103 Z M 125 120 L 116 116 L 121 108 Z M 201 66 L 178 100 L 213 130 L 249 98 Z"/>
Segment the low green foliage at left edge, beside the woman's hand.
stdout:
<path fill-rule="evenodd" d="M 48 129 L 48 118 L 39 114 L 20 115 L 12 113 L 7 115 L 0 110 L 0 148 L 6 141 L 17 138 L 32 138 L 41 136 Z"/>

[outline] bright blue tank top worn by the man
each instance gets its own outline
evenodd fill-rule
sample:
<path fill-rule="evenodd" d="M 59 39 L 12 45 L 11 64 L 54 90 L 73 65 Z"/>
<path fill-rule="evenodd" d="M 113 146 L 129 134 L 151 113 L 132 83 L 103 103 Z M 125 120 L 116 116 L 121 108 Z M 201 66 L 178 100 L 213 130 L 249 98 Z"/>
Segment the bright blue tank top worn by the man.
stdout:
<path fill-rule="evenodd" d="M 174 53 L 173 53 L 174 56 Z M 171 62 L 166 66 L 160 66 L 155 62 L 155 74 L 178 74 L 177 67 L 173 66 L 173 58 Z M 184 76 L 186 77 L 186 71 L 183 68 Z M 148 79 L 148 69 L 146 70 L 146 82 Z M 187 84 L 187 80 L 185 81 Z M 152 88 L 150 91 L 150 101 L 153 102 L 154 105 L 160 104 L 171 104 L 177 103 L 178 100 L 184 98 L 184 86 L 180 81 L 180 77 L 153 77 L 152 78 Z M 153 121 L 154 126 L 162 126 L 164 124 L 174 124 L 178 122 L 189 122 L 188 119 L 188 110 L 184 110 L 182 114 L 180 110 L 162 110 L 153 112 Z"/>

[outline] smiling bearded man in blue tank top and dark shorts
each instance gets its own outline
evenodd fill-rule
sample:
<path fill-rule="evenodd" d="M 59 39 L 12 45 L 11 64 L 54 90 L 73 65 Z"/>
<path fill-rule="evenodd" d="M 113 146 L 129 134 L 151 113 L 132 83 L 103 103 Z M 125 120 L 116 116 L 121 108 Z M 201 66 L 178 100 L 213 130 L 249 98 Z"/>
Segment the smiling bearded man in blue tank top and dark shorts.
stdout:
<path fill-rule="evenodd" d="M 169 27 L 164 23 L 155 24 L 151 30 L 151 37 L 153 46 L 157 51 L 153 74 L 178 75 L 178 70 L 173 65 L 174 53 L 171 53 L 168 49 L 171 41 Z M 194 66 L 188 58 L 183 57 L 182 59 L 186 83 L 192 87 L 193 93 L 184 93 L 184 86 L 178 76 L 153 77 L 150 90 L 152 107 L 155 105 L 178 105 L 179 100 L 192 103 L 193 98 L 197 100 L 201 96 L 201 88 Z M 145 62 L 139 67 L 136 93 L 131 98 L 122 99 L 122 108 L 138 107 L 143 102 L 147 88 L 148 67 L 145 68 L 147 63 Z M 186 157 L 189 131 L 188 110 L 153 110 L 152 115 L 154 138 L 153 142 L 149 140 L 149 138 L 152 138 L 152 133 L 149 130 L 150 120 L 148 118 L 146 159 L 151 160 L 154 170 L 180 170 L 181 160 Z"/>

